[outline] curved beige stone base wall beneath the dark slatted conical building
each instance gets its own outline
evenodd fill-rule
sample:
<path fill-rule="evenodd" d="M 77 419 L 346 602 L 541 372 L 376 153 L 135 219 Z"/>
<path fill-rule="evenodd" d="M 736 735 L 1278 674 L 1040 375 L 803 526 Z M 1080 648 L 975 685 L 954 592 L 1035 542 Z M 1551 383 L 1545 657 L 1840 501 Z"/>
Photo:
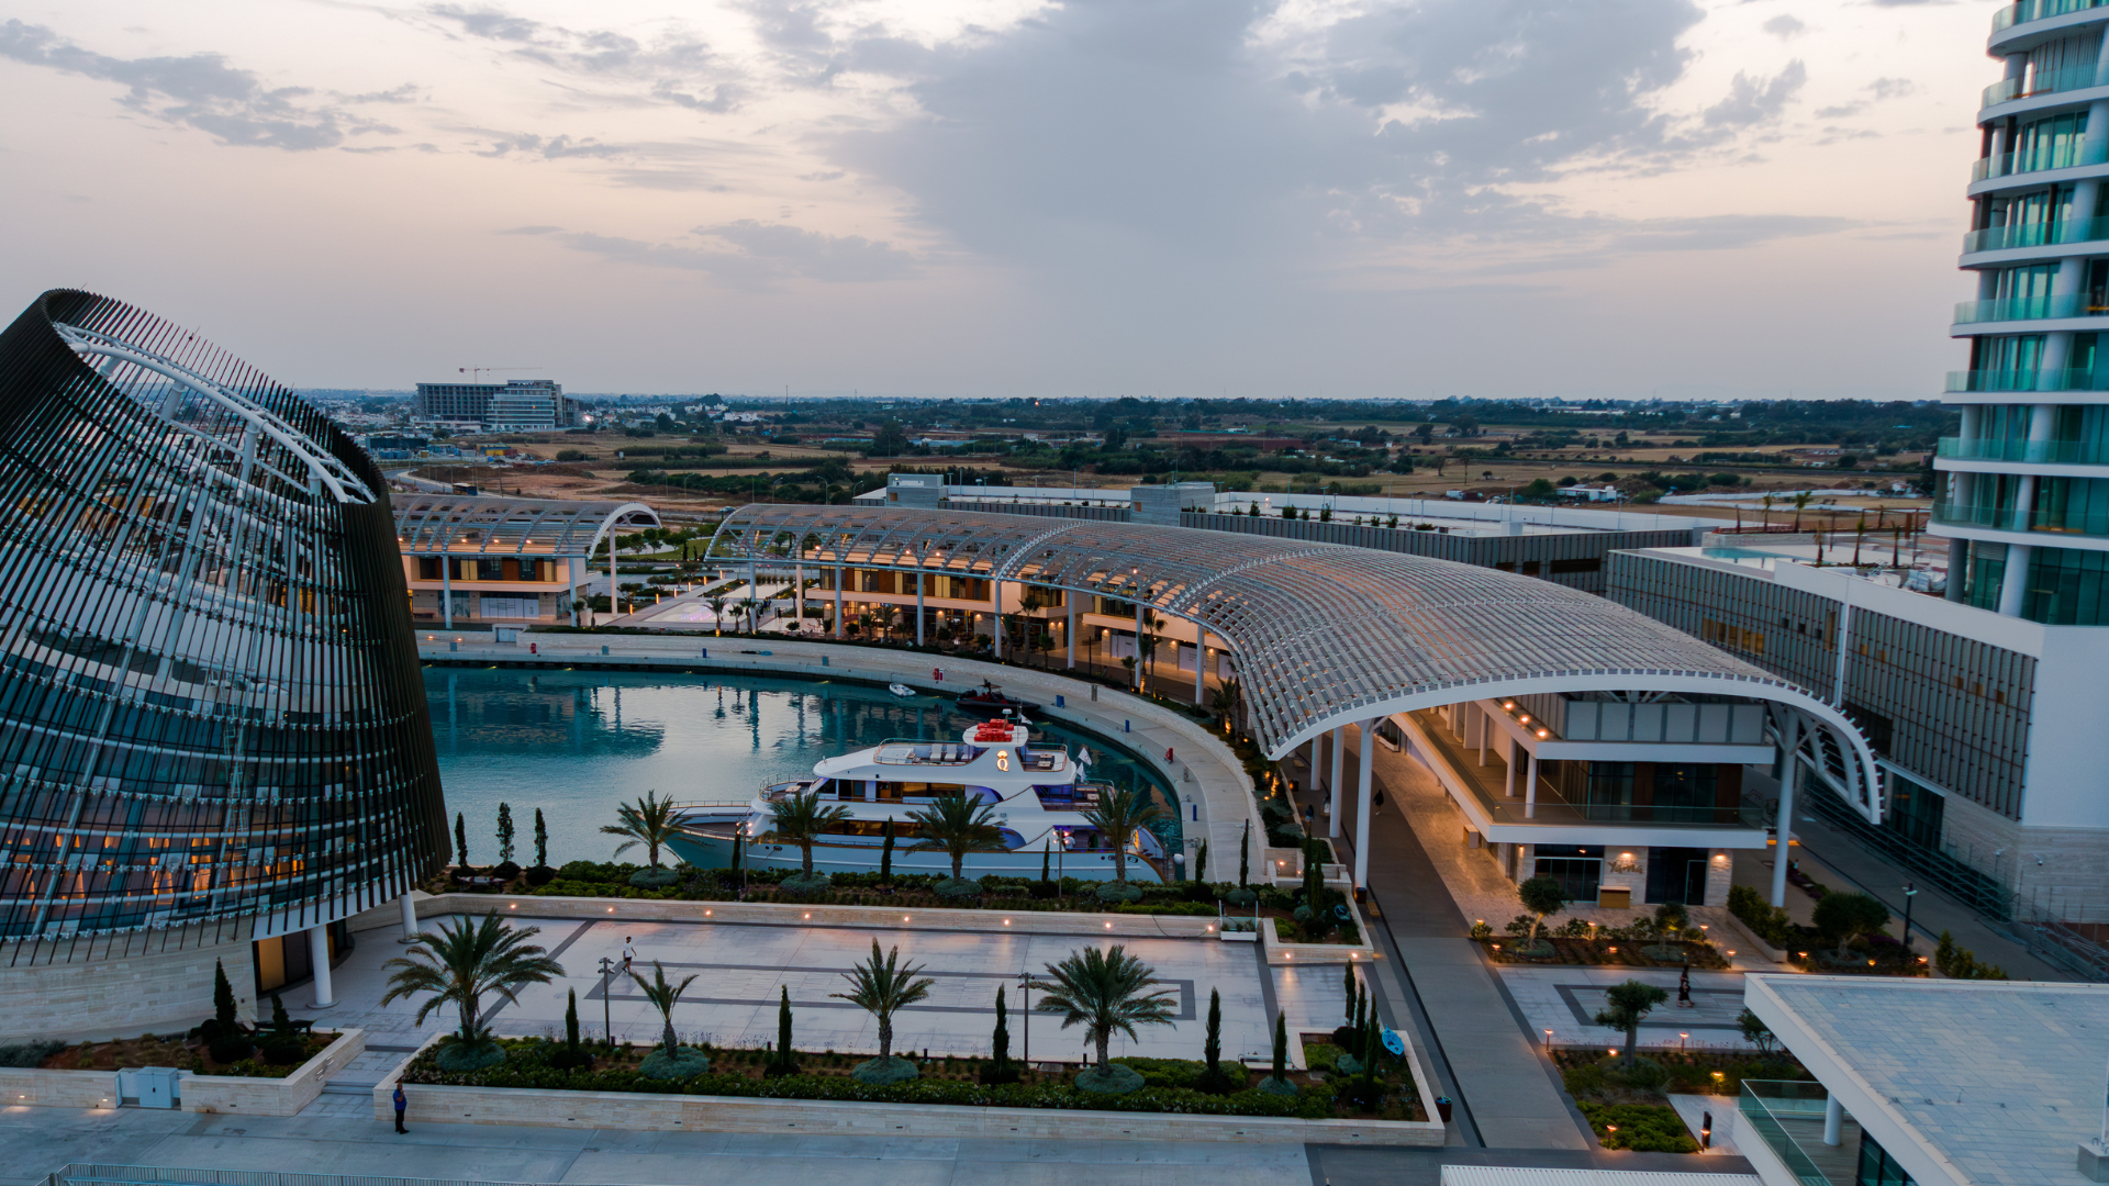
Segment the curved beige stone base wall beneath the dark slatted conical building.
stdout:
<path fill-rule="evenodd" d="M 127 945 L 137 954 L 127 954 Z M 21 943 L 0 967 L 0 1040 L 190 1030 L 213 1015 L 213 960 L 226 964 L 243 1019 L 253 1019 L 249 952 L 249 939 L 215 943 L 194 931 Z"/>

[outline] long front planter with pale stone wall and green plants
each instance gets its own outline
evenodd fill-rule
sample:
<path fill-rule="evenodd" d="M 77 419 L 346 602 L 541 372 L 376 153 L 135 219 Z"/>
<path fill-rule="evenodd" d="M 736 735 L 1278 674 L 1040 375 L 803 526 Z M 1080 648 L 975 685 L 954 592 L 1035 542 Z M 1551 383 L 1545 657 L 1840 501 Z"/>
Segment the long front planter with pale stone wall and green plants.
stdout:
<path fill-rule="evenodd" d="M 974 1080 L 981 1059 L 932 1059 L 924 1064 L 926 1078 L 871 1087 L 848 1076 L 863 1055 L 801 1053 L 801 1074 L 766 1078 L 761 1051 L 711 1051 L 711 1074 L 654 1080 L 637 1072 L 647 1047 L 618 1047 L 599 1053 L 593 1068 L 557 1070 L 546 1061 L 557 1042 L 504 1038 L 504 1064 L 466 1074 L 439 1070 L 430 1045 L 411 1057 L 396 1072 L 411 1118 L 658 1131 L 1443 1144 L 1440 1125 L 1362 1116 L 1335 1106 L 1333 1085 L 1312 1083 L 1303 1072 L 1291 1076 L 1295 1095 L 1257 1091 L 1263 1074 L 1249 1074 L 1253 1087 L 1234 1095 L 1206 1095 L 1177 1087 L 1192 1080 L 1198 1064 L 1114 1059 L 1139 1070 L 1145 1087 L 1101 1095 L 1071 1087 L 1069 1070 L 1029 1070 L 1025 1083 L 985 1087 Z M 1240 1074 L 1236 1064 L 1221 1066 Z M 388 1104 L 396 1076 L 375 1087 L 375 1114 Z M 1398 1091 L 1413 1093 L 1413 1078 L 1405 1074 Z M 1417 1108 L 1413 1095 L 1409 1108 Z"/>

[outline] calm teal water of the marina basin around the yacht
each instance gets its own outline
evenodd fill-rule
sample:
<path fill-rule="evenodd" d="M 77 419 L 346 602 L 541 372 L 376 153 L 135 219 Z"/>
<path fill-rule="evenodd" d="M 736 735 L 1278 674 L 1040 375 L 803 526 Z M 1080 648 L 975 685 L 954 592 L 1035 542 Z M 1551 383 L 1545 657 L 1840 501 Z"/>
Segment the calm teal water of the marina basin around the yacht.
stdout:
<path fill-rule="evenodd" d="M 548 821 L 548 861 L 607 861 L 616 804 L 645 791 L 679 802 L 749 798 L 801 779 L 814 762 L 888 737 L 949 739 L 974 718 L 936 696 L 905 701 L 860 684 L 658 675 L 647 671 L 494 671 L 426 667 L 439 772 L 468 817 L 468 861 L 498 861 L 498 804 L 512 804 L 515 861 L 534 863 L 534 812 Z M 1166 783 L 1105 739 L 1036 726 L 1036 739 L 1090 745 L 1092 777 L 1116 787 Z M 643 848 L 624 853 L 643 861 Z M 662 861 L 666 857 L 660 857 Z"/>

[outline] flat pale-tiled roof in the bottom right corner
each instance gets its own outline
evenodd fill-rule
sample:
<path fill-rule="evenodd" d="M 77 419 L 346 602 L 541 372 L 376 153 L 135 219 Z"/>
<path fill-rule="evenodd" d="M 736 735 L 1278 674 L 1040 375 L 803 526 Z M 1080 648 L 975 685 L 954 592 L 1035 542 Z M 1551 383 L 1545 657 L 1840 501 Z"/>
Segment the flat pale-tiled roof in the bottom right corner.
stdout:
<path fill-rule="evenodd" d="M 2079 1186 L 2109 986 L 1748 975 L 1750 1009 L 1919 1186 Z"/>

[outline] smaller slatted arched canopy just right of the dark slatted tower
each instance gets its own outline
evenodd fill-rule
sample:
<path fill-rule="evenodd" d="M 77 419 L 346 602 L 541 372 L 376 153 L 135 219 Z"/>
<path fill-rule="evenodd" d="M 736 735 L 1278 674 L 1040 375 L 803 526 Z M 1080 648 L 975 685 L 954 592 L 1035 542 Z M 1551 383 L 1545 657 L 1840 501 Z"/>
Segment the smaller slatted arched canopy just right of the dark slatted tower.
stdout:
<path fill-rule="evenodd" d="M 392 496 L 403 555 L 591 557 L 618 528 L 658 528 L 643 502 L 561 502 L 483 494 Z"/>

